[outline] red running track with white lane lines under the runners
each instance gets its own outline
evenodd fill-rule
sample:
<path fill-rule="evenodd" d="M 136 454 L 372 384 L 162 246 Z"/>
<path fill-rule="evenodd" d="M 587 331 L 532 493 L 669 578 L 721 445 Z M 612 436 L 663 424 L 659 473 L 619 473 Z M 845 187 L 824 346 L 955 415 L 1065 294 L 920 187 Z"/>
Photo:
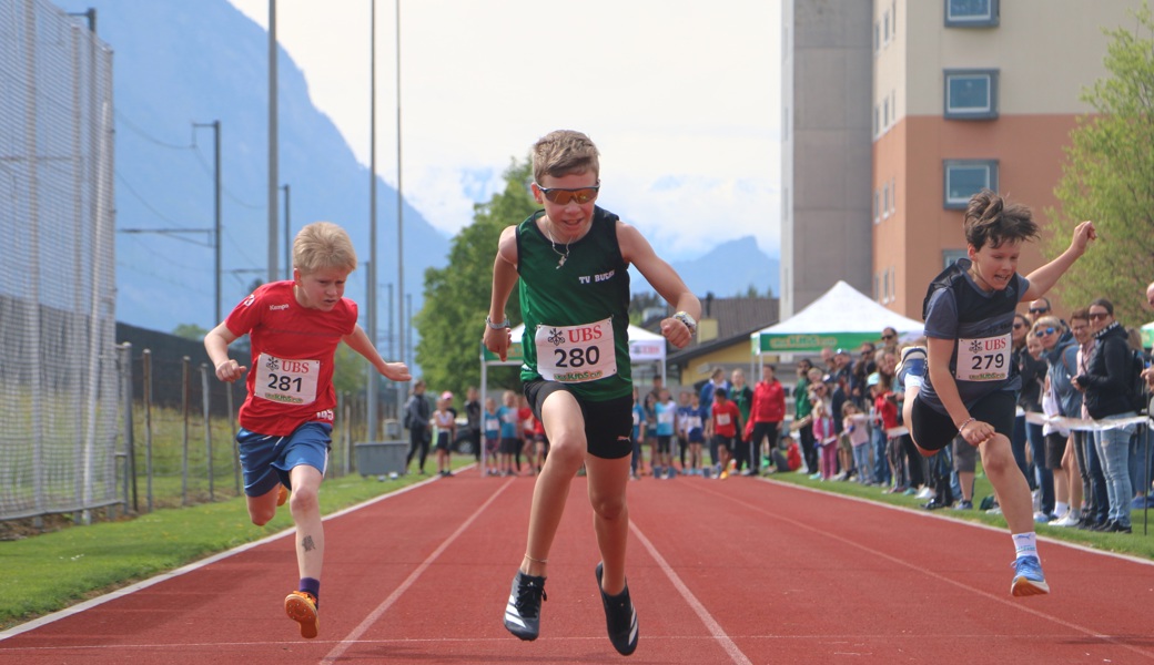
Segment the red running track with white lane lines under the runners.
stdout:
<path fill-rule="evenodd" d="M 591 663 L 605 635 L 584 478 L 542 634 L 501 624 L 533 479 L 436 479 L 325 522 L 321 635 L 282 602 L 275 536 L 0 633 L 0 663 Z M 1012 598 L 1005 531 L 735 477 L 631 483 L 635 663 L 1151 663 L 1154 567 L 1043 542 L 1054 592 Z"/>

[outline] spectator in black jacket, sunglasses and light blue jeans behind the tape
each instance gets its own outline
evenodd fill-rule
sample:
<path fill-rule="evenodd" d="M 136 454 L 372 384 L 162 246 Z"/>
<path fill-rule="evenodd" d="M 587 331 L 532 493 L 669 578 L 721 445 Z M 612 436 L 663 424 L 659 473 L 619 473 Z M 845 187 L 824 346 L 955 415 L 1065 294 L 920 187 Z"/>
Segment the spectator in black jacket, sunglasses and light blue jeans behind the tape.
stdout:
<path fill-rule="evenodd" d="M 1097 299 L 1089 304 L 1089 325 L 1097 345 L 1084 373 L 1073 379 L 1085 388 L 1084 401 L 1089 417 L 1095 421 L 1123 420 L 1134 416 L 1130 402 L 1130 345 L 1126 331 L 1114 318 L 1114 303 Z M 1101 531 L 1131 532 L 1130 501 L 1130 437 L 1134 425 L 1115 425 L 1094 432 L 1094 447 L 1106 475 L 1107 500 L 1110 512 Z"/>

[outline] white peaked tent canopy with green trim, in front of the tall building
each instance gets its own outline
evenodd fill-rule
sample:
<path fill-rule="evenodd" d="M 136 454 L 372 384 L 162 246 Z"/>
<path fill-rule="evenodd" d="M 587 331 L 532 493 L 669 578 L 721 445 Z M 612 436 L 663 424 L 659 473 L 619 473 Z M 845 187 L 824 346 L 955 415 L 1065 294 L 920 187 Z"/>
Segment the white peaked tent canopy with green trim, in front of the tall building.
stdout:
<path fill-rule="evenodd" d="M 889 310 L 845 281 L 805 309 L 750 335 L 752 353 L 818 353 L 823 348 L 856 348 L 877 341 L 883 328 L 920 334 L 924 324 Z"/>

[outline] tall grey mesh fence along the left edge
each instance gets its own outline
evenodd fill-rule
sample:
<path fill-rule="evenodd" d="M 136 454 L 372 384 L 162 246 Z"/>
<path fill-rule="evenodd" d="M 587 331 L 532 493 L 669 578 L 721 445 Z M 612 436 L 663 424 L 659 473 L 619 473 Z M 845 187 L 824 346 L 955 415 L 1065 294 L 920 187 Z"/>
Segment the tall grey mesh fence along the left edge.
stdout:
<path fill-rule="evenodd" d="M 115 488 L 112 52 L 44 0 L 0 0 L 0 519 Z"/>

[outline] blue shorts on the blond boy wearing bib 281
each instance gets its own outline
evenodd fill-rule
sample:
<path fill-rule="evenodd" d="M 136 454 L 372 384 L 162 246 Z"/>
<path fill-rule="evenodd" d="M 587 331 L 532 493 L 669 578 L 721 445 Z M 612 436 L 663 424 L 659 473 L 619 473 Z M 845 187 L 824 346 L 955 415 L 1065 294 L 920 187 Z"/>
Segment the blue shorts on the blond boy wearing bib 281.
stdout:
<path fill-rule="evenodd" d="M 245 471 L 245 494 L 263 497 L 277 483 L 292 489 L 288 473 L 308 464 L 321 475 L 329 466 L 332 425 L 305 423 L 287 437 L 258 434 L 241 428 L 237 432 L 240 468 Z"/>

